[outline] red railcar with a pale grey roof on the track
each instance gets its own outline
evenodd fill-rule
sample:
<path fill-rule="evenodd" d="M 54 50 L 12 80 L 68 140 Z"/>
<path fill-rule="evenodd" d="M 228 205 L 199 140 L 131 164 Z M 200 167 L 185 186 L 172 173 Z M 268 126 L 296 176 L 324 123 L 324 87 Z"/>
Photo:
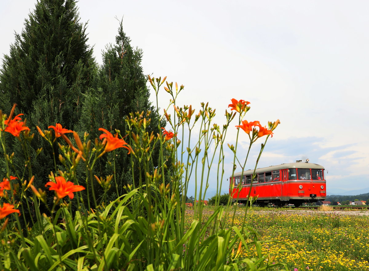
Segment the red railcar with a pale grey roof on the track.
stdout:
<path fill-rule="evenodd" d="M 307 160 L 308 161 L 308 160 Z M 239 189 L 238 189 L 239 188 Z M 324 167 L 313 163 L 280 164 L 234 173 L 230 177 L 232 201 L 246 203 L 257 196 L 260 206 L 323 201 L 326 197 Z"/>

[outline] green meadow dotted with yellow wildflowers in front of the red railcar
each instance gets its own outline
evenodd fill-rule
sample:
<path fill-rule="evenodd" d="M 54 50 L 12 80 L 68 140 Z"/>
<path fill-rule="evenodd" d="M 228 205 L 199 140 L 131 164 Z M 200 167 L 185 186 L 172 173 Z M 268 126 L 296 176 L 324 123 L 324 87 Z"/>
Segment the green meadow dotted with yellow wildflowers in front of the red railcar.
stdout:
<path fill-rule="evenodd" d="M 211 213 L 212 207 L 205 208 L 203 219 Z M 241 227 L 244 215 L 243 208 L 239 207 L 234 225 Z M 190 209 L 186 220 L 192 220 Z M 231 220 L 230 216 L 228 222 L 232 223 Z M 260 240 L 270 241 L 261 244 L 262 253 L 270 254 L 266 259 L 270 264 L 287 263 L 289 269 L 295 271 L 369 270 L 369 219 L 363 212 L 352 215 L 350 212 L 249 208 L 246 223 Z M 257 258 L 256 247 L 242 251 L 242 257 Z M 301 260 L 304 269 L 301 269 Z"/>

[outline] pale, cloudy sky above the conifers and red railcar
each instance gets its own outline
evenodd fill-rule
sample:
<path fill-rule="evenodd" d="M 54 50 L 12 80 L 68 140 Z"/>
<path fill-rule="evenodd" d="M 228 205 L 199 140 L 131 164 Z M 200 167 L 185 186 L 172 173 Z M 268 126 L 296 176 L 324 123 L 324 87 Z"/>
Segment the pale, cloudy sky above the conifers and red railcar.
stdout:
<path fill-rule="evenodd" d="M 35 2 L 1 1 L 1 59 Z M 215 122 L 223 125 L 236 98 L 251 103 L 248 121 L 267 125 L 280 119 L 258 167 L 308 158 L 327 170 L 328 194 L 369 192 L 368 1 L 81 0 L 77 6 L 98 63 L 123 18 L 131 45 L 144 52 L 144 73 L 184 85 L 177 105 L 192 104 L 197 112 L 209 102 Z M 163 91 L 159 106 L 166 108 L 169 99 Z M 234 125 L 227 133 L 230 144 Z M 240 160 L 248 140 L 240 133 Z M 246 169 L 254 167 L 260 143 Z M 228 191 L 232 160 L 227 150 L 222 193 Z M 215 178 L 212 172 L 208 196 Z"/>

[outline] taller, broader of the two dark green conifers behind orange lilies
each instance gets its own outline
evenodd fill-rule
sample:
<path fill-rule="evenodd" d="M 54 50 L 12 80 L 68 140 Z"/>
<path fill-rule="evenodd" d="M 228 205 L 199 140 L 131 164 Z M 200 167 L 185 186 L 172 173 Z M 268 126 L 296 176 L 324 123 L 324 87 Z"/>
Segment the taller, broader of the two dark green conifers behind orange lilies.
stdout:
<path fill-rule="evenodd" d="M 23 31 L 15 35 L 9 55 L 4 56 L 0 70 L 3 112 L 10 112 L 17 103 L 16 114 L 23 113 L 32 129 L 35 125 L 48 129 L 57 122 L 77 128 L 83 94 L 96 78 L 92 48 L 86 44 L 86 24 L 79 21 L 75 0 L 37 1 Z M 36 134 L 34 148 L 44 147 L 34 163 L 35 183 L 41 186 L 54 164 L 50 147 Z"/>

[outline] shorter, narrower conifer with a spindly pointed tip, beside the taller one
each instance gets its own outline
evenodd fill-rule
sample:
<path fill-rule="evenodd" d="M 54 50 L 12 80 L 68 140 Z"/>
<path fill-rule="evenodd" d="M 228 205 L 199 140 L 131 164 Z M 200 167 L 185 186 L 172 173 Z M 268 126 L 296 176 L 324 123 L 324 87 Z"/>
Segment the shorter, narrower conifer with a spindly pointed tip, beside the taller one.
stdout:
<path fill-rule="evenodd" d="M 88 131 L 91 138 L 98 137 L 102 127 L 114 133 L 115 129 L 125 135 L 125 119 L 131 112 L 151 111 L 151 124 L 148 131 L 154 134 L 160 133 L 158 124 L 159 117 L 149 101 L 149 89 L 147 87 L 147 76 L 144 75 L 141 61 L 142 50 L 132 48 L 131 39 L 123 31 L 123 22 L 120 21 L 115 44 L 106 46 L 103 52 L 103 65 L 99 70 L 97 89 L 95 93 L 86 94 L 83 114 L 81 117 L 81 130 Z M 83 126 L 85 125 L 85 126 Z M 161 126 L 165 125 L 165 121 Z M 130 135 L 128 135 L 129 138 Z M 129 142 L 128 138 L 126 141 Z M 159 150 L 157 148 L 156 152 Z M 117 156 L 108 154 L 107 159 L 116 161 L 115 173 L 118 186 L 121 188 L 131 183 L 130 157 L 117 152 Z M 157 159 L 154 153 L 154 161 Z M 105 174 L 110 174 L 111 168 L 106 168 Z M 114 191 L 114 190 L 113 190 Z"/>

